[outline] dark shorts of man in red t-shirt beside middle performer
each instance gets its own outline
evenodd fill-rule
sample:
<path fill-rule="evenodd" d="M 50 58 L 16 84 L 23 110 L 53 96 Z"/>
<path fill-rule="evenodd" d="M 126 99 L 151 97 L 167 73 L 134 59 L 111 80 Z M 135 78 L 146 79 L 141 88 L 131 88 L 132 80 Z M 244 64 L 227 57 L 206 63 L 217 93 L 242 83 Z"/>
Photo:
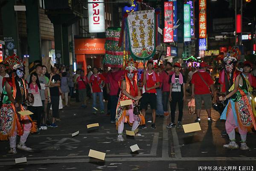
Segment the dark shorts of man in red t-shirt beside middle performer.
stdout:
<path fill-rule="evenodd" d="M 151 109 L 157 109 L 157 95 L 156 93 L 143 93 L 142 98 L 140 99 L 140 108 L 148 109 L 148 104 Z"/>

